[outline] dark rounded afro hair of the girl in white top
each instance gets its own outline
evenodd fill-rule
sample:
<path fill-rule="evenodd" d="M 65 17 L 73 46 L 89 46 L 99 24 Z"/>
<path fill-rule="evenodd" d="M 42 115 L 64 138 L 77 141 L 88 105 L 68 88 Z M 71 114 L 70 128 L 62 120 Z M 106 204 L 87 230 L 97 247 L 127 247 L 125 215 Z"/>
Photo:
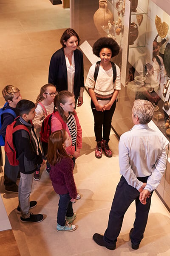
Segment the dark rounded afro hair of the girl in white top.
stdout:
<path fill-rule="evenodd" d="M 108 48 L 112 52 L 112 57 L 118 55 L 120 47 L 119 44 L 113 40 L 113 38 L 99 38 L 93 46 L 93 53 L 97 57 L 100 57 L 100 51 L 103 48 Z"/>

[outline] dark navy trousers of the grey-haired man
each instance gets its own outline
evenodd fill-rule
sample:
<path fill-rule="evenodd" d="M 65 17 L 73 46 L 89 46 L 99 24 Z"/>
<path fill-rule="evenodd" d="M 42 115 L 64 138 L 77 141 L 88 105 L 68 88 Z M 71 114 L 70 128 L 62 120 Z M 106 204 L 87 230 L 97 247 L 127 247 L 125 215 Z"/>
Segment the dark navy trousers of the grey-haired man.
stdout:
<path fill-rule="evenodd" d="M 148 177 L 139 177 L 142 182 L 147 182 Z M 153 192 L 151 192 L 152 195 Z M 115 245 L 119 236 L 123 218 L 130 204 L 135 200 L 136 203 L 136 218 L 133 223 L 133 233 L 130 236 L 131 242 L 134 245 L 140 244 L 143 233 L 147 224 L 147 218 L 150 209 L 151 195 L 147 198 L 147 204 L 141 204 L 139 201 L 139 191 L 127 184 L 127 181 L 122 176 L 114 195 L 111 211 L 109 215 L 108 228 L 104 234 L 104 240 L 108 245 Z"/>

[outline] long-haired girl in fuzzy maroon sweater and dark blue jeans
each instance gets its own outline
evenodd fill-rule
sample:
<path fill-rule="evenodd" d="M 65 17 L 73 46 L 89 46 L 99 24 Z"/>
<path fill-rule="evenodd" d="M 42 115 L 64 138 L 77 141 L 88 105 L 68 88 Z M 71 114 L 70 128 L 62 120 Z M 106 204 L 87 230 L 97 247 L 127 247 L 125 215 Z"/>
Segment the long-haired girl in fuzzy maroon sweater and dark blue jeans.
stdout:
<path fill-rule="evenodd" d="M 72 205 L 72 201 L 77 197 L 73 177 L 74 164 L 65 151 L 65 148 L 70 145 L 71 137 L 65 129 L 54 131 L 48 140 L 47 159 L 51 165 L 50 178 L 55 192 L 59 194 L 57 212 L 57 231 L 59 232 L 76 229 L 76 225 L 71 224 L 77 217 Z"/>

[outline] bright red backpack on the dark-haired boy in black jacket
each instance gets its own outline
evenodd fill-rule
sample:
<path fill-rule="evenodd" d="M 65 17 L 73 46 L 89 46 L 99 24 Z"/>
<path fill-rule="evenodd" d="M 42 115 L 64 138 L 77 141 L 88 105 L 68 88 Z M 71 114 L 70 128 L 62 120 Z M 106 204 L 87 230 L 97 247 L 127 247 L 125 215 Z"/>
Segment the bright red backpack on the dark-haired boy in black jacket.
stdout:
<path fill-rule="evenodd" d="M 14 122 L 12 122 L 11 125 L 8 125 L 6 128 L 4 149 L 5 149 L 6 155 L 8 157 L 8 161 L 11 166 L 19 165 L 19 161 L 17 159 L 17 151 L 16 151 L 16 149 L 14 147 L 14 143 L 13 143 L 14 132 L 18 131 L 18 130 L 26 130 L 26 131 L 28 131 L 29 137 L 30 137 L 30 131 L 28 130 L 28 128 L 25 125 L 17 125 L 14 127 L 16 122 L 17 122 L 17 120 L 15 119 Z M 31 137 L 30 137 L 30 142 L 31 142 Z"/>

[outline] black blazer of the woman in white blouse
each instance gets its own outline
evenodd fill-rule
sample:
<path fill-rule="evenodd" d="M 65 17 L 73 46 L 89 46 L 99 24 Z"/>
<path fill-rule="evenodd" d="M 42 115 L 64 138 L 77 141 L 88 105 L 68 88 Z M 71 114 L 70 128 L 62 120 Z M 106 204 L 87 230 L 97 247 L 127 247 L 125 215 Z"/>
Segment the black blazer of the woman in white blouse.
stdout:
<path fill-rule="evenodd" d="M 74 74 L 74 95 L 79 97 L 80 87 L 84 87 L 83 55 L 78 49 L 74 51 L 75 74 Z M 68 90 L 67 67 L 65 62 L 64 49 L 54 52 L 51 57 L 48 83 L 54 84 L 57 91 Z"/>

